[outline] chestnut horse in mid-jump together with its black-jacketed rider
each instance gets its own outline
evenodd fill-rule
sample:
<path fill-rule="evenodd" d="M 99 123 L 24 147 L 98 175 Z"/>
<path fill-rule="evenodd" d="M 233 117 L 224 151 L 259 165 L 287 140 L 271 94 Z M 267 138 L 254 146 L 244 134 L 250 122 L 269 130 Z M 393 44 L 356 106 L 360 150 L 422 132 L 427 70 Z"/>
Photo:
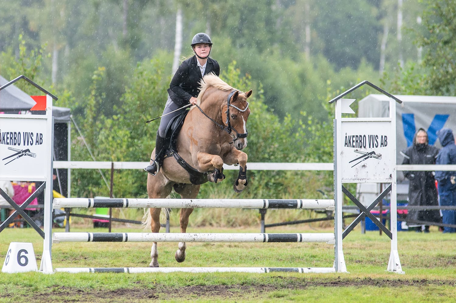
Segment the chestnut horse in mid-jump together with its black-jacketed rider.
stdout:
<path fill-rule="evenodd" d="M 218 75 L 218 62 L 209 58 L 212 42 L 205 33 L 192 39 L 195 56 L 182 62 L 170 88 L 155 144 L 155 159 L 145 168 L 147 193 L 150 199 L 166 198 L 171 191 L 181 198 L 197 197 L 200 186 L 207 181 L 220 182 L 225 178 L 223 164 L 239 165 L 239 175 L 233 190 L 240 193 L 247 185 L 247 154 L 241 150 L 247 146 L 246 123 L 249 118 L 247 98 L 252 94 L 240 92 L 223 82 Z M 201 86 L 201 87 L 200 87 Z M 200 92 L 201 89 L 201 92 Z M 171 152 L 167 152 L 166 130 L 172 118 L 193 107 L 181 124 L 181 130 L 173 140 Z M 173 137 L 174 138 L 174 137 Z M 165 146 L 166 144 L 166 146 Z M 172 156 L 170 156 L 172 154 Z M 181 232 L 187 230 L 191 205 L 180 213 Z M 152 232 L 160 231 L 160 208 L 150 208 L 145 225 Z M 180 242 L 176 261 L 185 260 L 186 243 Z M 158 267 L 157 243 L 152 244 L 150 267 Z"/>

